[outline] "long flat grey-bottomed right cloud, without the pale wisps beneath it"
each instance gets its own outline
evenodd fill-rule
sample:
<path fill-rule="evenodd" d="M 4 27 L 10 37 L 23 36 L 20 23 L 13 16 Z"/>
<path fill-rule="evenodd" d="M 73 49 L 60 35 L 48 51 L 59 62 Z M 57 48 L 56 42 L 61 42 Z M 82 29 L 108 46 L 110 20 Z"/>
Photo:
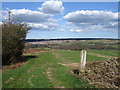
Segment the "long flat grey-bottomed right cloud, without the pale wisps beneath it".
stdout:
<path fill-rule="evenodd" d="M 118 13 L 107 11 L 76 11 L 68 13 L 64 18 L 69 22 L 76 23 L 103 23 L 104 21 L 115 20 L 118 17 Z"/>

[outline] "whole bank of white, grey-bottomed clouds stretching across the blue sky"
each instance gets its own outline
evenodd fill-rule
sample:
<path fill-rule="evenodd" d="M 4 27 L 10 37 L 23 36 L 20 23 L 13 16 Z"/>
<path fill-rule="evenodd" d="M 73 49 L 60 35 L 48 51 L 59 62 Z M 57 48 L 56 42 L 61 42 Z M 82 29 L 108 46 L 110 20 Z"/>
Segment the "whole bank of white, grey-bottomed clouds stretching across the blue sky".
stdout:
<path fill-rule="evenodd" d="M 33 30 L 57 30 L 57 28 L 61 27 L 60 31 L 71 32 L 115 31 L 118 27 L 118 13 L 111 11 L 80 10 L 70 12 L 63 17 L 67 23 L 62 23 L 58 27 L 56 22 L 59 22 L 59 20 L 52 18 L 54 18 L 55 14 L 63 13 L 64 7 L 61 1 L 46 1 L 38 9 L 40 11 L 12 9 L 11 13 L 13 19 L 28 23 L 29 26 L 33 27 Z M 7 16 L 3 17 L 6 18 Z M 60 20 L 64 22 L 63 19 Z"/>

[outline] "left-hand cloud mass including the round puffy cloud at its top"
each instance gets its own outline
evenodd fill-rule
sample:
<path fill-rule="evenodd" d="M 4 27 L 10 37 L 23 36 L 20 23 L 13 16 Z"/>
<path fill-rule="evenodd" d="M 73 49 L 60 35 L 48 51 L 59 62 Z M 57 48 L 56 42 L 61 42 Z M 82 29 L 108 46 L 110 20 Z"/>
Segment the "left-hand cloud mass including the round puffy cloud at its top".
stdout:
<path fill-rule="evenodd" d="M 32 30 L 56 30 L 58 20 L 53 19 L 54 14 L 62 14 L 64 7 L 61 1 L 46 1 L 38 8 L 41 11 L 33 11 L 30 9 L 12 9 L 11 14 L 13 20 L 27 23 Z M 7 11 L 4 11 L 4 19 L 7 19 Z"/>

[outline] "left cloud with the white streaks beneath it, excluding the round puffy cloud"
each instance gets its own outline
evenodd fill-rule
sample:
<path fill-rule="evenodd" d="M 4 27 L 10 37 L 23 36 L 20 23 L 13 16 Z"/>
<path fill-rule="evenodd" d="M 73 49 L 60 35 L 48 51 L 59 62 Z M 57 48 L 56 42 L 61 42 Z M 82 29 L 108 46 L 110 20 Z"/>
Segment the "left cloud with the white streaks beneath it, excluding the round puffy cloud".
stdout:
<path fill-rule="evenodd" d="M 15 20 L 19 20 L 23 23 L 27 23 L 32 30 L 56 30 L 57 20 L 52 19 L 51 14 L 45 14 L 40 11 L 32 11 L 29 9 L 12 9 L 11 10 L 12 18 Z M 6 12 L 7 15 L 7 12 Z M 4 16 L 6 19 L 7 16 Z"/>

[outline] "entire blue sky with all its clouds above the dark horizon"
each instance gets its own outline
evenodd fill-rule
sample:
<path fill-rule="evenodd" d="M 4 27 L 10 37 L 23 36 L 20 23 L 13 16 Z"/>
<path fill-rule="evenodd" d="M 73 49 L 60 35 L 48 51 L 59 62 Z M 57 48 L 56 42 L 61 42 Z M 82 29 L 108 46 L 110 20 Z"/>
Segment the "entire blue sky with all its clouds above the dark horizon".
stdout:
<path fill-rule="evenodd" d="M 117 2 L 3 2 L 3 19 L 25 22 L 27 39 L 118 38 Z"/>

